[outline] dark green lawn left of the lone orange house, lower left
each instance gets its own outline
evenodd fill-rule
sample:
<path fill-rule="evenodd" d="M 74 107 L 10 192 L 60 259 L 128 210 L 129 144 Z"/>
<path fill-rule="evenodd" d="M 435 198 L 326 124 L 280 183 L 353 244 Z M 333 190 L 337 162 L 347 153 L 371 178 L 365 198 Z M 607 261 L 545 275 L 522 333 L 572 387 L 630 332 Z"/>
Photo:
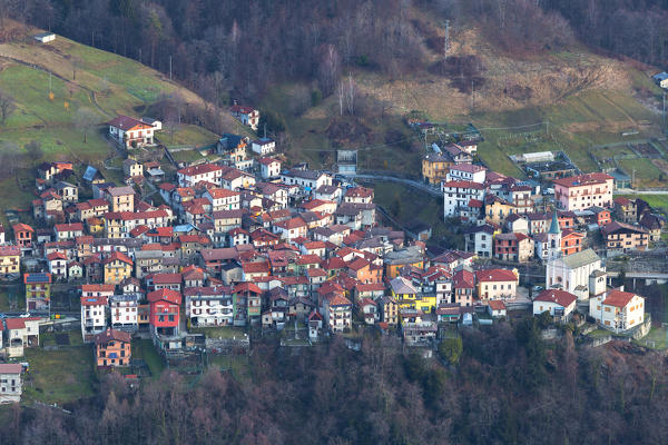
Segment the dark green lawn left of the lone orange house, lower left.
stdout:
<path fill-rule="evenodd" d="M 26 349 L 21 359 L 30 364 L 23 386 L 23 403 L 67 403 L 95 394 L 92 346 L 60 350 Z"/>

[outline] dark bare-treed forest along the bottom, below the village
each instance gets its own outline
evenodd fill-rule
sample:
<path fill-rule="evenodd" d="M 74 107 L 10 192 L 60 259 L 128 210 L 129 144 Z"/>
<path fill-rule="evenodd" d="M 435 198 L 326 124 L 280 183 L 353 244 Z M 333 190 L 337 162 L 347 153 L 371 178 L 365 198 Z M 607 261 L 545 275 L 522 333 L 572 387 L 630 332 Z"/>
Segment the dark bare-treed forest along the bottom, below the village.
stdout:
<path fill-rule="evenodd" d="M 463 329 L 441 358 L 393 336 L 353 352 L 254 347 L 245 375 L 174 374 L 131 389 L 109 375 L 71 414 L 1 412 L 14 444 L 658 444 L 668 437 L 665 356 L 628 343 L 546 343 L 540 320 Z"/>

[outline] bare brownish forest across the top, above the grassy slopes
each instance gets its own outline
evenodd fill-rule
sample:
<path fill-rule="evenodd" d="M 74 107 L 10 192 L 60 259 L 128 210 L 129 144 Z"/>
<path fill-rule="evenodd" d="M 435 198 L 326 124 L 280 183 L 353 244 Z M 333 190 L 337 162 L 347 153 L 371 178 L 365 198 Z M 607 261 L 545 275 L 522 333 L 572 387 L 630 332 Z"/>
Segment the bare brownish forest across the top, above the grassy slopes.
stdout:
<path fill-rule="evenodd" d="M 499 48 L 558 50 L 573 36 L 664 65 L 667 0 L 3 0 L 13 17 L 169 72 L 204 97 L 256 100 L 285 79 L 327 96 L 346 67 L 428 69 L 443 31 L 470 26 Z M 426 20 L 432 17 L 433 20 Z"/>

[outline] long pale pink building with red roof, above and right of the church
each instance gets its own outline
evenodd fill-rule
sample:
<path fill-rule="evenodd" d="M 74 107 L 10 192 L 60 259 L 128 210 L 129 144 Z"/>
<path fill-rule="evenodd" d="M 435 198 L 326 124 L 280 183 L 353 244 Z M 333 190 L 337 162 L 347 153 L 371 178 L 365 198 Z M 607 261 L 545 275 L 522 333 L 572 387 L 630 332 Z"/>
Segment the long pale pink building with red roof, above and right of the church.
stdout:
<path fill-rule="evenodd" d="M 612 207 L 615 178 L 606 174 L 584 174 L 554 179 L 554 199 L 564 210 L 584 210 L 592 206 Z"/>

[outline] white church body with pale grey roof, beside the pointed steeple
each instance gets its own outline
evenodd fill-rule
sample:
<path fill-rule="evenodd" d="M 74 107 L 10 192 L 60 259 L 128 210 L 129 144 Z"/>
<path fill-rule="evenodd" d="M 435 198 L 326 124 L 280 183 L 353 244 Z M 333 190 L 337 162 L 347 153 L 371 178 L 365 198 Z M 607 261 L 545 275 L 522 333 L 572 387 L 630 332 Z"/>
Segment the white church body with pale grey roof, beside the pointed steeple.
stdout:
<path fill-rule="evenodd" d="M 553 258 L 546 266 L 546 288 L 562 289 L 587 299 L 606 290 L 605 279 L 597 279 L 599 271 L 605 273 L 606 268 L 592 249 Z"/>

